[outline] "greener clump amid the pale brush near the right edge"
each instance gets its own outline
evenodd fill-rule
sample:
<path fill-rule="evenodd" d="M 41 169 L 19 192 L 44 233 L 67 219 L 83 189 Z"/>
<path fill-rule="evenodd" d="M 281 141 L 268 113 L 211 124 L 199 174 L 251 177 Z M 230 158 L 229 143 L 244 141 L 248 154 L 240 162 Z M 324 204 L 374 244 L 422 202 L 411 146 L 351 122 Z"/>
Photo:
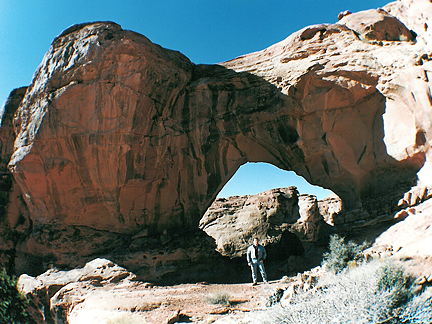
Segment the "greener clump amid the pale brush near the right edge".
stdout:
<path fill-rule="evenodd" d="M 377 288 L 391 294 L 393 307 L 407 303 L 413 297 L 412 285 L 414 278 L 405 273 L 405 270 L 391 263 L 386 263 L 379 270 Z"/>

